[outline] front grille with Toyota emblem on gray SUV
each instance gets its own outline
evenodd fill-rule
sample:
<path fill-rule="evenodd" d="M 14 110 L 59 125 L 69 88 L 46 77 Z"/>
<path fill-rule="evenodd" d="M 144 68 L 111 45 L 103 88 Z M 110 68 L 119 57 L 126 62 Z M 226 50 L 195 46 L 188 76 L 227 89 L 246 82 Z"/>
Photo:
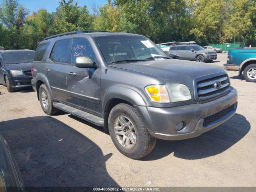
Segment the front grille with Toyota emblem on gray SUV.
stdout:
<path fill-rule="evenodd" d="M 198 101 L 208 100 L 225 94 L 230 87 L 228 75 L 220 75 L 196 83 L 195 99 Z"/>

